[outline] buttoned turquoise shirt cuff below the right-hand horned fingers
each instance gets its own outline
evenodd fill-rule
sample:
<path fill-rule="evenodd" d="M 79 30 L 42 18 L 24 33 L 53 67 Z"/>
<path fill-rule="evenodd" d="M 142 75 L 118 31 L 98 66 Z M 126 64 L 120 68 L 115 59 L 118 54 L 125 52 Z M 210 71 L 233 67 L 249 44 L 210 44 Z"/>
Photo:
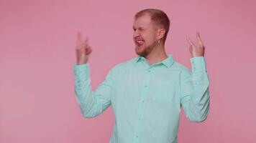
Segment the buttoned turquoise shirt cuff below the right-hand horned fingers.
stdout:
<path fill-rule="evenodd" d="M 191 58 L 191 66 L 193 72 L 206 71 L 206 61 L 204 56 L 195 56 Z"/>

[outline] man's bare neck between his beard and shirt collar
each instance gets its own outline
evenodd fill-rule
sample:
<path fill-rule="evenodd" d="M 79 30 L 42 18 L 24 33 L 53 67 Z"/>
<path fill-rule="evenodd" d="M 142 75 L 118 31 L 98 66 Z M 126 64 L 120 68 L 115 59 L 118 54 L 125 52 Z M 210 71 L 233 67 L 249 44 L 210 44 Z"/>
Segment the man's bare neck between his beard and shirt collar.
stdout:
<path fill-rule="evenodd" d="M 165 47 L 163 46 L 163 44 L 155 46 L 150 54 L 147 54 L 147 56 L 145 56 L 145 59 L 147 59 L 147 63 L 150 65 L 163 61 L 166 58 L 168 58 L 168 55 L 165 53 Z"/>

